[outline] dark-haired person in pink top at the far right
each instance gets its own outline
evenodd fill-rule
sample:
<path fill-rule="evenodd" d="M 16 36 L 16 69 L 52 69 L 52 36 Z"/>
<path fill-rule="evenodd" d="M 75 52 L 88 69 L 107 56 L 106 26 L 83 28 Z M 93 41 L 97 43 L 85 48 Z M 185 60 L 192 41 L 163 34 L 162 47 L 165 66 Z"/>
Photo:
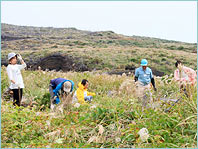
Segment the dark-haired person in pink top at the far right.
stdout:
<path fill-rule="evenodd" d="M 175 63 L 177 68 L 174 71 L 174 79 L 180 84 L 180 91 L 184 91 L 187 97 L 189 97 L 190 86 L 196 84 L 196 72 L 189 67 L 184 66 L 180 60 L 177 60 Z"/>

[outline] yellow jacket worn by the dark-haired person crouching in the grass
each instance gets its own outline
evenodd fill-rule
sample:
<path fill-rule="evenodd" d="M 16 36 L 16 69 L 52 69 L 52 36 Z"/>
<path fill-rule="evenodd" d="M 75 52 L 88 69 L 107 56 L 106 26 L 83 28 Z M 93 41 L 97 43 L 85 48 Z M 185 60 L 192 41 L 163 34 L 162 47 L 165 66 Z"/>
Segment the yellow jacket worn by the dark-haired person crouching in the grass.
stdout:
<path fill-rule="evenodd" d="M 78 83 L 78 89 L 76 91 L 76 96 L 78 98 L 78 102 L 80 104 L 84 104 L 85 103 L 85 99 L 84 99 L 84 93 L 87 92 L 87 96 L 95 96 L 95 93 L 92 92 L 88 92 L 87 89 L 85 89 L 85 87 L 80 83 Z"/>

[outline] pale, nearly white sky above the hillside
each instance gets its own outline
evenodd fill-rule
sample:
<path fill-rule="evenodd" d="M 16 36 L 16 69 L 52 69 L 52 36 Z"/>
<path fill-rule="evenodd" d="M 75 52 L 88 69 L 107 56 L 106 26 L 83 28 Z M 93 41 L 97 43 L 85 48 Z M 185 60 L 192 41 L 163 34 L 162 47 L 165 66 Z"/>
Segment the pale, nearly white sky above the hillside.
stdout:
<path fill-rule="evenodd" d="M 1 23 L 197 42 L 195 1 L 3 1 Z"/>

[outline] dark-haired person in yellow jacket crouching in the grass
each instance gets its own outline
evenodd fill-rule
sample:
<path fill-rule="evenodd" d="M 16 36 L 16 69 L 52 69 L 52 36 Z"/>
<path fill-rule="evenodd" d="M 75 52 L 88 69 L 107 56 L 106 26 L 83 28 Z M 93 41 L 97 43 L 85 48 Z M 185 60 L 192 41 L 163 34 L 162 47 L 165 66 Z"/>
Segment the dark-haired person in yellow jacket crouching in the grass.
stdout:
<path fill-rule="evenodd" d="M 88 92 L 89 82 L 86 79 L 83 79 L 81 82 L 78 83 L 78 89 L 74 94 L 74 98 L 80 103 L 84 104 L 86 101 L 91 102 L 95 93 Z"/>

